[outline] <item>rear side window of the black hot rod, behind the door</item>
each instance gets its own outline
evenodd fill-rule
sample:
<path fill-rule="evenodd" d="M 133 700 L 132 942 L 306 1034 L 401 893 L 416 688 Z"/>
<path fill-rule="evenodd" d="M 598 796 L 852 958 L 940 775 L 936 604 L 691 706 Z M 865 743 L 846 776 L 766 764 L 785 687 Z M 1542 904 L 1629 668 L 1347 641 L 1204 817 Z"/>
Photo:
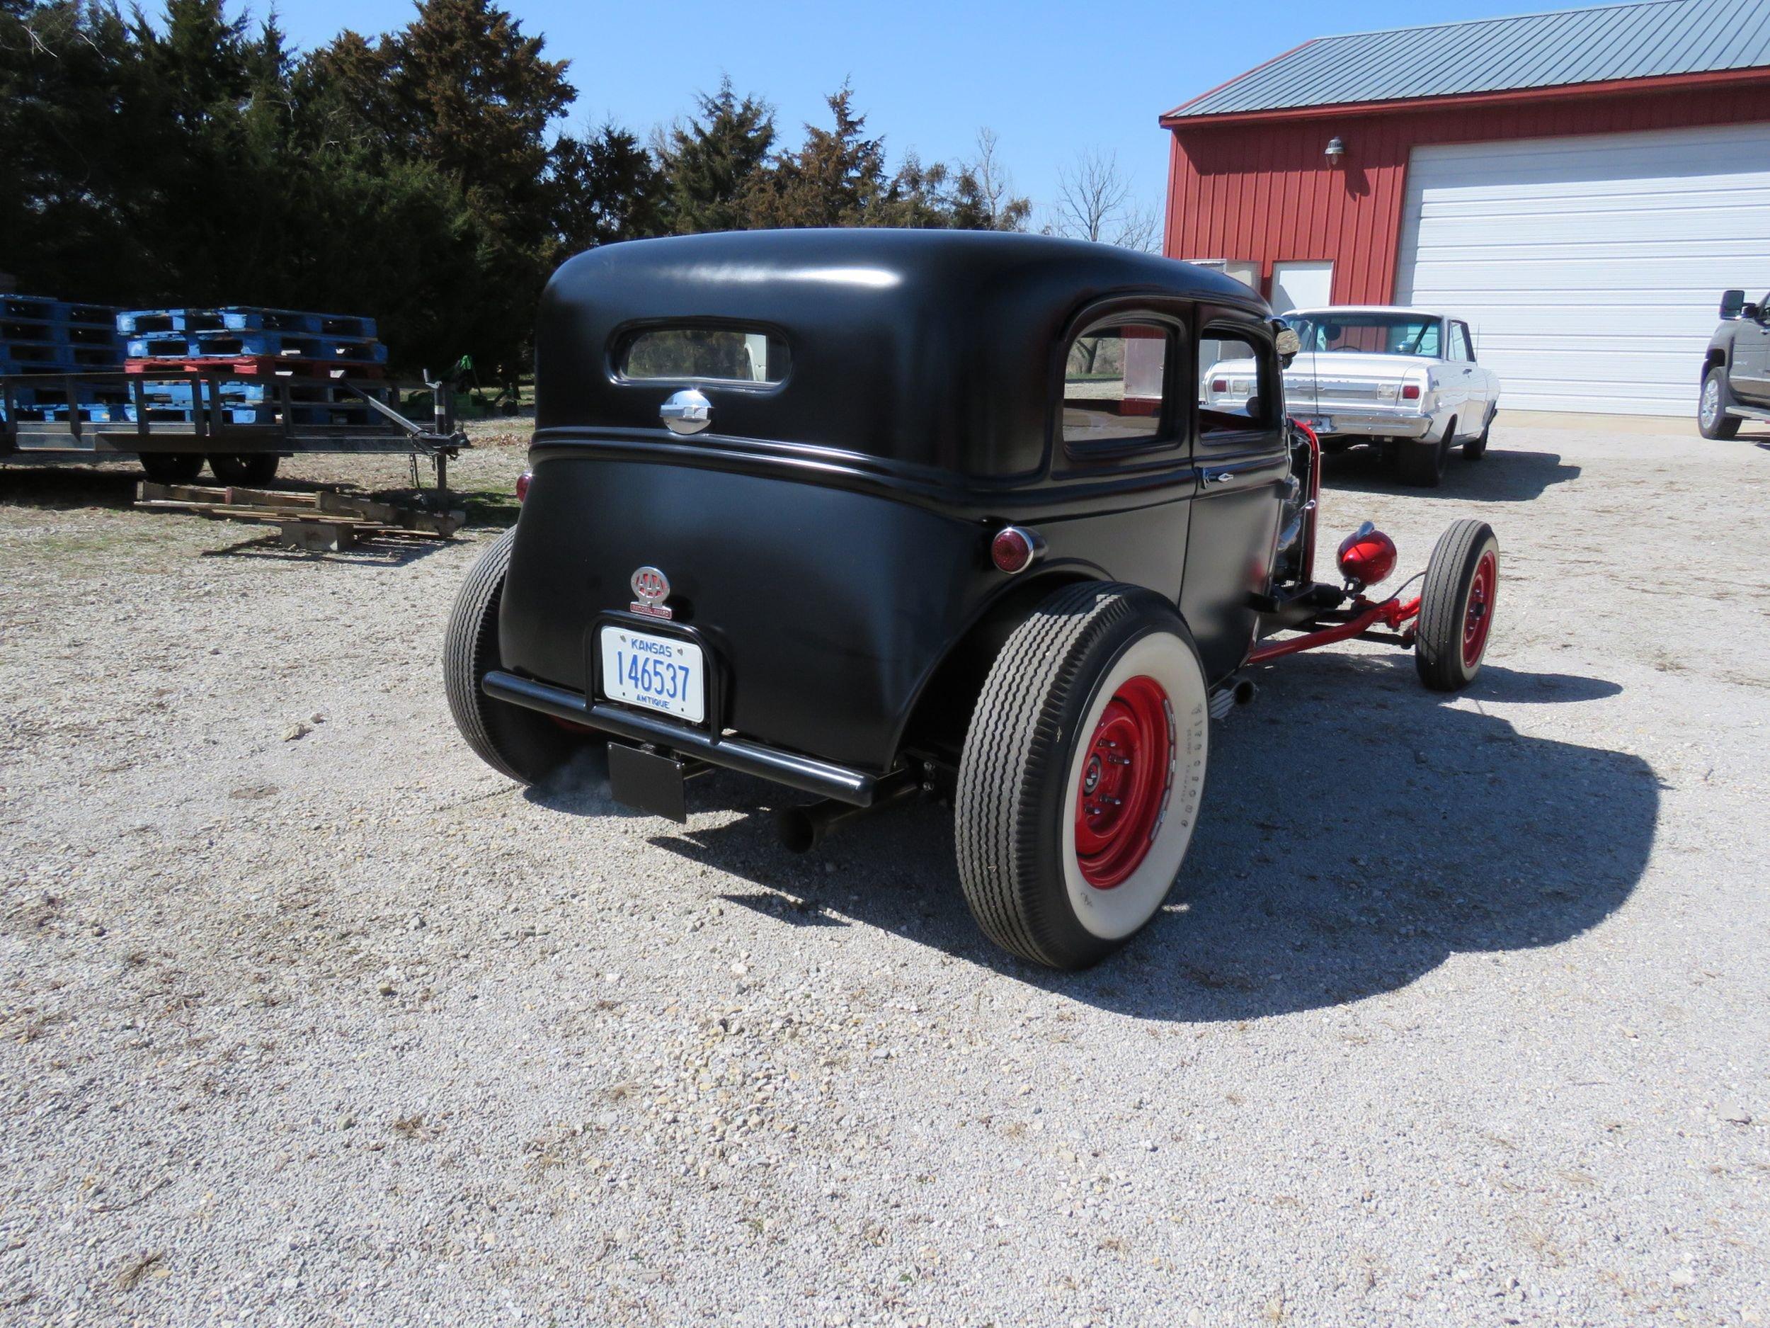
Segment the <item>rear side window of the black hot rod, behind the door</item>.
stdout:
<path fill-rule="evenodd" d="M 1159 322 L 1096 324 L 1064 358 L 1064 446 L 1085 453 L 1156 443 L 1165 429 L 1174 329 Z"/>

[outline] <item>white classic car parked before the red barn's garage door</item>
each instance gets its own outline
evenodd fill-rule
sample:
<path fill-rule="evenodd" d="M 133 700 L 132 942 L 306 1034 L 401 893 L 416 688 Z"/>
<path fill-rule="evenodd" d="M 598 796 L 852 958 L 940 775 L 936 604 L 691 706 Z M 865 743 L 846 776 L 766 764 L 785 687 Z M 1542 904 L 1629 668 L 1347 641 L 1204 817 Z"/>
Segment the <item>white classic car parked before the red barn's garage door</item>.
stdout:
<path fill-rule="evenodd" d="M 1471 460 L 1487 452 L 1499 411 L 1499 377 L 1474 359 L 1469 324 L 1443 313 L 1388 305 L 1292 310 L 1281 315 L 1301 351 L 1285 368 L 1285 409 L 1306 421 L 1322 450 L 1382 446 L 1412 483 L 1435 485 L 1450 450 Z M 1253 391 L 1253 361 L 1216 359 L 1198 400 L 1234 409 Z"/>

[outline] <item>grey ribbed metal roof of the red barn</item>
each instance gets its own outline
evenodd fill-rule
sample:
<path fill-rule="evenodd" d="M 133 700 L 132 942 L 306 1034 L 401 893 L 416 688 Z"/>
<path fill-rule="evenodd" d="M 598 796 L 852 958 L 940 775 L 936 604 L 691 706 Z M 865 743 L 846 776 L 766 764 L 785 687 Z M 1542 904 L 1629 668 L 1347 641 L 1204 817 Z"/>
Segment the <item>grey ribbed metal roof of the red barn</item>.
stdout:
<path fill-rule="evenodd" d="M 1770 0 L 1648 0 L 1315 37 L 1163 119 L 1770 66 Z"/>

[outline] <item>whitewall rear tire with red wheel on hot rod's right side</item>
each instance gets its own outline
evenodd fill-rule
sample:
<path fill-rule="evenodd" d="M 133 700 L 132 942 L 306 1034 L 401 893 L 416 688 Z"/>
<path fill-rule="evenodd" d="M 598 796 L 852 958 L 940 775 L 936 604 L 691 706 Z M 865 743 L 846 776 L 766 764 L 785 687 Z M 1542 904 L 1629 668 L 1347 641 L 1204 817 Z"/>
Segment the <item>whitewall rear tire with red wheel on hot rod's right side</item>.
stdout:
<path fill-rule="evenodd" d="M 959 758 L 959 882 L 984 933 L 1083 969 L 1154 917 L 1193 838 L 1207 721 L 1198 648 L 1159 595 L 1090 583 L 1039 604 Z"/>

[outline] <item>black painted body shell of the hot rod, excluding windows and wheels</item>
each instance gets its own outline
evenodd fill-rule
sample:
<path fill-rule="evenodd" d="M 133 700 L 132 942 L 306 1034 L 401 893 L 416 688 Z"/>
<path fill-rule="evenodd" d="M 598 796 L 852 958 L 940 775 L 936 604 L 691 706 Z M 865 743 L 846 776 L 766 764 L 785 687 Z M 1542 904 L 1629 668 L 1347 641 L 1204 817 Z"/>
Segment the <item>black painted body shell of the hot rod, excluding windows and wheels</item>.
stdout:
<path fill-rule="evenodd" d="M 1174 368 L 1186 402 L 1200 305 L 1269 345 L 1266 305 L 1228 278 L 1034 235 L 747 232 L 570 260 L 540 312 L 504 668 L 593 694 L 586 634 L 627 609 L 628 577 L 651 565 L 720 671 L 715 722 L 857 770 L 899 758 L 936 669 L 993 606 L 1027 602 L 1016 591 L 1034 579 L 1159 591 L 1221 678 L 1251 645 L 1246 595 L 1266 590 L 1281 430 L 1244 439 L 1235 459 L 1195 455 L 1189 418 L 1135 455 L 1074 459 L 1057 443 L 1080 326 L 1149 312 L 1186 329 Z M 791 372 L 694 381 L 712 427 L 667 432 L 658 405 L 689 381 L 627 381 L 612 347 L 685 322 L 765 328 L 788 342 Z M 1209 499 L 1195 498 L 1204 462 L 1237 473 Z M 1046 542 L 1021 577 L 989 563 L 1005 522 Z M 935 708 L 963 717 L 970 699 Z"/>

